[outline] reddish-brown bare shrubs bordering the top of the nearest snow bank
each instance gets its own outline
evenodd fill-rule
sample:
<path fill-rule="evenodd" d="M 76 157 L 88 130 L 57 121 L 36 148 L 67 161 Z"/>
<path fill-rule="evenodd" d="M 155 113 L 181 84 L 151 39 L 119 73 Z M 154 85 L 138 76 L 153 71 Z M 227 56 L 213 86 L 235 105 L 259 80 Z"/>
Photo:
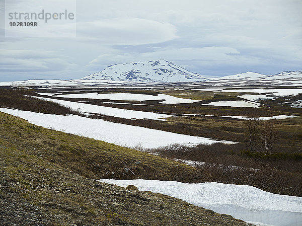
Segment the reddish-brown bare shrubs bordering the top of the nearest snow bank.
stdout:
<path fill-rule="evenodd" d="M 245 150 L 243 144 L 174 144 L 148 149 L 168 159 L 192 160 L 199 174 L 191 180 L 252 185 L 278 194 L 302 196 L 302 154 L 266 154 Z M 197 179 L 198 178 L 198 179 Z"/>

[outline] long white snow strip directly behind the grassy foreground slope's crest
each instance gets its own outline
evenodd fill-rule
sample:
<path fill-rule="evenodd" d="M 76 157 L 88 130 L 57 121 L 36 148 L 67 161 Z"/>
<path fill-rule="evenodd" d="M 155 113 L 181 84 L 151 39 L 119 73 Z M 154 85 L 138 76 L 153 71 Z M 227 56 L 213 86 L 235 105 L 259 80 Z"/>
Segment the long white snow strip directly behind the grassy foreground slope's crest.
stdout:
<path fill-rule="evenodd" d="M 101 119 L 91 119 L 77 115 L 51 115 L 30 111 L 0 108 L 0 111 L 28 120 L 30 123 L 67 133 L 82 135 L 118 145 L 156 148 L 173 143 L 187 145 L 199 143 L 234 143 L 232 141 L 217 141 L 210 138 L 189 136 L 184 134 L 149 129 L 139 126 L 125 125 Z"/>

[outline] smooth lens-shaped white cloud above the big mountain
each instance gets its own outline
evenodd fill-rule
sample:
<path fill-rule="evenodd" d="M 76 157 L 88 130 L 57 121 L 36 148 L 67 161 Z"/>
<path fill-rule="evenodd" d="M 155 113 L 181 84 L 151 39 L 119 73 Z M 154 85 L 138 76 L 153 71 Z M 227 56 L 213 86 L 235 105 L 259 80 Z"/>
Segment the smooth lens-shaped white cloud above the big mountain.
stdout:
<path fill-rule="evenodd" d="M 77 23 L 77 38 L 110 45 L 141 45 L 178 38 L 175 26 L 139 18 L 113 18 Z"/>

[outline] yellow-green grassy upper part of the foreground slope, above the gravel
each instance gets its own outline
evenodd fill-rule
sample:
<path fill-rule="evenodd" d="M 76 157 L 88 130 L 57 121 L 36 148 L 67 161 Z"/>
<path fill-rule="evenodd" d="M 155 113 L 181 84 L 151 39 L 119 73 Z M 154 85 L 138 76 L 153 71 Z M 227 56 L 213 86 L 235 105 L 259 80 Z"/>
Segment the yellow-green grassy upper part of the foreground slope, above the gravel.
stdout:
<path fill-rule="evenodd" d="M 2 145 L 20 150 L 26 158 L 37 156 L 38 164 L 49 162 L 88 178 L 186 181 L 195 170 L 138 150 L 45 129 L 1 112 L 0 116 Z M 183 175 L 178 175 L 176 168 Z"/>

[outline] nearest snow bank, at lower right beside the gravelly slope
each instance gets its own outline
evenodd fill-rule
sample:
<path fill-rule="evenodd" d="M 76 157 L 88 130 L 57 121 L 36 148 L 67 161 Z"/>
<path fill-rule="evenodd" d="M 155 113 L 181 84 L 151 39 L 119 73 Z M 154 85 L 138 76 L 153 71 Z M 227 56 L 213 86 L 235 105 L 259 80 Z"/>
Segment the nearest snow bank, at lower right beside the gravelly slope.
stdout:
<path fill-rule="evenodd" d="M 100 182 L 122 187 L 132 184 L 140 191 L 170 195 L 245 221 L 280 226 L 302 225 L 302 197 L 277 195 L 252 186 L 157 180 L 101 179 Z"/>

